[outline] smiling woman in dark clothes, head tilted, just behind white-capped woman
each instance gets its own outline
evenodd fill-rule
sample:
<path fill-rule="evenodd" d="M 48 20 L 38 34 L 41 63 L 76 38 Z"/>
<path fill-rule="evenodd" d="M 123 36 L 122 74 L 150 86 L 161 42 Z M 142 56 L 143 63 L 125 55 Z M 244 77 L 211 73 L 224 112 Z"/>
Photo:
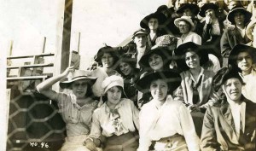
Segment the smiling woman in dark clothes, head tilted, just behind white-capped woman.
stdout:
<path fill-rule="evenodd" d="M 124 78 L 125 95 L 134 102 L 137 107 L 137 89 L 135 88 L 135 81 L 139 78 L 140 71 L 136 67 L 137 59 L 132 58 L 131 54 L 123 54 L 119 58 L 119 66 L 117 71 Z"/>

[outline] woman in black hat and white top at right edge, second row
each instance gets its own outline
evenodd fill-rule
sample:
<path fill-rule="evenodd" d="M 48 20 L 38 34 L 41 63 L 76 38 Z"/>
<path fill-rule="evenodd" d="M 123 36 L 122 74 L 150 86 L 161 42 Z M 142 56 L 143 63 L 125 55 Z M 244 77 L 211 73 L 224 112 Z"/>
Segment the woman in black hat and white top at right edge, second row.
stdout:
<path fill-rule="evenodd" d="M 254 87 L 256 85 L 256 49 L 245 44 L 237 44 L 230 52 L 229 64 L 241 69 L 239 75 L 245 82 L 241 93 L 247 99 L 256 102 Z"/>

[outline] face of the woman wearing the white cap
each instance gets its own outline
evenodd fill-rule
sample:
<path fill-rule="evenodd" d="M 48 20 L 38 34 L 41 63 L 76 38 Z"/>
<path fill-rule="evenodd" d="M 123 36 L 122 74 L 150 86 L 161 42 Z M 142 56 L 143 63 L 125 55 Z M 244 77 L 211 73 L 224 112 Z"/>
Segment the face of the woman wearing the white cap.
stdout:
<path fill-rule="evenodd" d="M 113 86 L 107 91 L 108 104 L 117 105 L 121 99 L 121 96 L 122 96 L 122 90 L 117 86 Z"/>

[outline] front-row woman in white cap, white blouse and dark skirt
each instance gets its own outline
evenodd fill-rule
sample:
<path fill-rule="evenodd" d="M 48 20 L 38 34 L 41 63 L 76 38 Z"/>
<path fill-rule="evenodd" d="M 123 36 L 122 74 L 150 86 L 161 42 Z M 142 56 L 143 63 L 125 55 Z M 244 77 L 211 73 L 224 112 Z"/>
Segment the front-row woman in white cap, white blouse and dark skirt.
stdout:
<path fill-rule="evenodd" d="M 92 116 L 91 131 L 84 141 L 86 148 L 96 150 L 99 142 L 104 151 L 136 151 L 138 147 L 138 110 L 134 103 L 122 98 L 123 78 L 113 75 L 102 82 L 103 104 Z M 106 139 L 102 139 L 104 136 Z"/>

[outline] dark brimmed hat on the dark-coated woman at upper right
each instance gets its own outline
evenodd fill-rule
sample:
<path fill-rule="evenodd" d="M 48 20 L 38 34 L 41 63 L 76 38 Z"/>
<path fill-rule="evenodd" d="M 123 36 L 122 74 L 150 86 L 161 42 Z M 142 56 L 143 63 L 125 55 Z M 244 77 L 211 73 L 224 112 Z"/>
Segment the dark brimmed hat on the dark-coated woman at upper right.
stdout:
<path fill-rule="evenodd" d="M 243 8 L 235 8 L 235 9 L 232 9 L 230 11 L 230 13 L 227 15 L 227 20 L 229 20 L 232 25 L 235 25 L 234 17 L 235 17 L 236 12 L 241 12 L 241 14 L 244 14 L 244 16 L 245 16 L 245 20 L 244 20 L 245 25 L 251 20 L 252 13 L 248 12 L 246 9 L 243 9 Z"/>

